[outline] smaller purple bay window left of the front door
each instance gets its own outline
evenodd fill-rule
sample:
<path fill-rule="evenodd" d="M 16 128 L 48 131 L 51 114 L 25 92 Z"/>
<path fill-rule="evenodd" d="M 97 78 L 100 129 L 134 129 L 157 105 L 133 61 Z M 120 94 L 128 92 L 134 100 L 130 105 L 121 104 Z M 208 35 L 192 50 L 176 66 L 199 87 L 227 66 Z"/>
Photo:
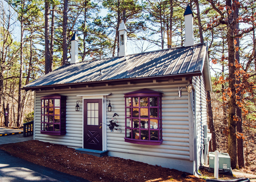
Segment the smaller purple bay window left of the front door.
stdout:
<path fill-rule="evenodd" d="M 52 94 L 41 97 L 41 134 L 66 134 L 66 96 Z"/>

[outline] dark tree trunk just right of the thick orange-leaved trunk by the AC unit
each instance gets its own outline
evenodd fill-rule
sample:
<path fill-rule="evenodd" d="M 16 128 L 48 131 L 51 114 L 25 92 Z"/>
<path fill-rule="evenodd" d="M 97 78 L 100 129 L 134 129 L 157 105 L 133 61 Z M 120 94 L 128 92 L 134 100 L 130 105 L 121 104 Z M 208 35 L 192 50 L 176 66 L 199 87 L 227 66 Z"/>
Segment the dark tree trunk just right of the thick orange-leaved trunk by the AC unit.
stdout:
<path fill-rule="evenodd" d="M 234 8 L 234 21 L 236 22 L 239 18 L 239 7 L 236 6 L 236 4 L 238 3 L 238 1 L 235 1 L 235 8 Z M 239 34 L 239 24 L 236 23 L 235 25 L 235 34 Z M 236 40 L 236 47 L 238 47 L 238 49 L 236 50 L 235 53 L 235 59 L 238 63 L 240 63 L 240 55 L 239 55 L 239 49 L 240 49 L 240 40 L 239 38 L 235 38 Z M 240 69 L 240 68 L 237 68 Z M 236 74 L 236 84 L 237 84 L 237 101 L 241 101 L 241 90 L 239 89 L 239 84 L 240 84 L 241 80 L 240 80 L 240 74 Z M 236 116 L 237 121 L 236 121 L 236 130 L 238 133 L 243 133 L 243 127 L 242 127 L 242 110 L 239 106 L 236 105 Z M 237 138 L 237 161 L 238 161 L 238 166 L 239 168 L 243 168 L 244 167 L 244 139 L 242 137 Z"/>

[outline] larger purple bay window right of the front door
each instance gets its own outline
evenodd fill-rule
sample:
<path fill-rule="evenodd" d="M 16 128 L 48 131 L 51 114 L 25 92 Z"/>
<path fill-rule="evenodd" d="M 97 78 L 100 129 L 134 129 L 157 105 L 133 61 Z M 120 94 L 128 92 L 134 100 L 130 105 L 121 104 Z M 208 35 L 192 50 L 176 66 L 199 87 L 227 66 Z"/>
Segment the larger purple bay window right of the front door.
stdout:
<path fill-rule="evenodd" d="M 124 94 L 125 142 L 160 145 L 162 139 L 162 93 L 141 89 Z"/>

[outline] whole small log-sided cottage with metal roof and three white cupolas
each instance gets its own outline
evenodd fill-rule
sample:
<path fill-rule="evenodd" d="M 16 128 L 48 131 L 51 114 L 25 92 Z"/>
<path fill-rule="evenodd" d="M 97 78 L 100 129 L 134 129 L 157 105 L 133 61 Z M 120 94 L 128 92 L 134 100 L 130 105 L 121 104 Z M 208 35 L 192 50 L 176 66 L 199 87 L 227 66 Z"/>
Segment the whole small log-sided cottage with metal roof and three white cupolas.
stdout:
<path fill-rule="evenodd" d="M 122 22 L 117 57 L 79 62 L 75 33 L 70 64 L 23 88 L 35 91 L 34 139 L 196 173 L 212 88 L 207 43 L 194 44 L 189 6 L 184 16 L 185 46 L 140 54 L 127 55 Z"/>

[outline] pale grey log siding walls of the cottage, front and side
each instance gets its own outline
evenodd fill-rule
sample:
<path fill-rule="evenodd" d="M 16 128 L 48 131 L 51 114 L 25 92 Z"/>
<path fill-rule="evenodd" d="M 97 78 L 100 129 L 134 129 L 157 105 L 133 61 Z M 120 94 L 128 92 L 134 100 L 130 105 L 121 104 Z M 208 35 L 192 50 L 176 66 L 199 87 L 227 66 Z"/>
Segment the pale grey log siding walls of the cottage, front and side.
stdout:
<path fill-rule="evenodd" d="M 118 125 L 122 127 L 123 132 L 111 132 L 107 127 L 107 150 L 109 156 L 129 158 L 148 164 L 157 164 L 162 167 L 174 168 L 181 171 L 194 172 L 193 145 L 189 139 L 189 133 L 193 128 L 189 128 L 189 112 L 188 112 L 188 92 L 186 86 L 188 81 L 169 83 L 141 83 L 131 85 L 106 85 L 92 86 L 89 88 L 71 88 L 56 90 L 36 91 L 35 99 L 35 138 L 36 140 L 50 142 L 55 144 L 67 145 L 73 148 L 82 148 L 83 140 L 83 106 L 80 111 L 75 111 L 76 100 L 82 100 L 82 97 L 76 95 L 86 95 L 101 91 L 101 93 L 110 93 L 107 99 L 111 100 L 112 112 L 107 112 L 108 116 L 117 113 Z M 201 77 L 194 77 L 193 84 L 196 88 L 196 122 L 198 144 L 202 143 L 203 126 L 206 123 L 206 101 L 204 80 Z M 178 86 L 182 88 L 181 97 L 178 96 Z M 124 93 L 148 88 L 162 92 L 162 122 L 163 122 L 163 144 L 161 145 L 139 145 L 124 142 L 125 137 L 125 101 Z M 66 135 L 43 135 L 40 133 L 40 97 L 58 93 L 67 96 L 66 101 Z M 108 103 L 107 103 L 108 104 Z M 107 105 L 106 104 L 106 105 Z M 107 122 L 107 121 L 103 121 Z M 193 131 L 193 130 L 192 130 Z"/>

